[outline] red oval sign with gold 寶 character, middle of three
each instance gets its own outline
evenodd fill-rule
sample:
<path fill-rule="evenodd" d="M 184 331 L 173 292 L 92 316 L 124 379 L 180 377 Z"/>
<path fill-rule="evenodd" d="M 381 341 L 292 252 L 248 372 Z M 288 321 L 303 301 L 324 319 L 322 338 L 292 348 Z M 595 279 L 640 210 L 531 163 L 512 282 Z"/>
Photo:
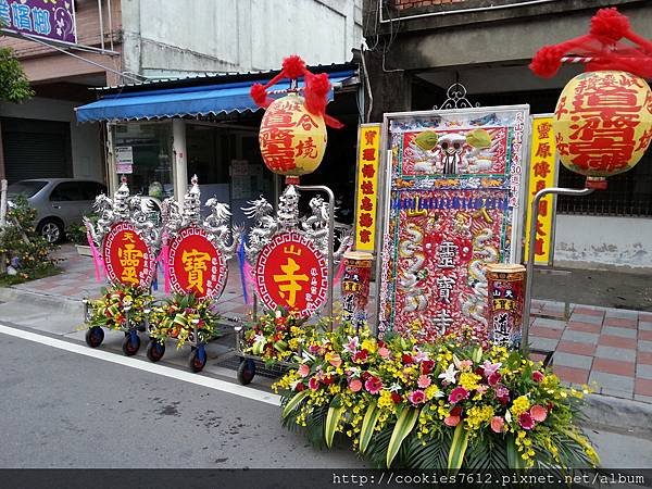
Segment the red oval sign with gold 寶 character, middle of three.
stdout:
<path fill-rule="evenodd" d="M 170 246 L 167 263 L 170 284 L 177 293 L 216 298 L 224 290 L 226 260 L 202 228 L 181 229 Z"/>

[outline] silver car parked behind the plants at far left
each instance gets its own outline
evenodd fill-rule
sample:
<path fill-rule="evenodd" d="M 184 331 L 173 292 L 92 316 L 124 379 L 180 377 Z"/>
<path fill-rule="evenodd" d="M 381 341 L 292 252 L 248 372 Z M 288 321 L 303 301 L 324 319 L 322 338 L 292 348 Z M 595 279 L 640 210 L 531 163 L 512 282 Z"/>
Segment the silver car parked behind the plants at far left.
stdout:
<path fill-rule="evenodd" d="M 92 212 L 96 196 L 106 193 L 100 181 L 76 178 L 37 178 L 20 180 L 8 188 L 11 200 L 25 196 L 36 209 L 36 230 L 49 242 L 59 242 L 65 229 L 82 223 L 82 216 Z"/>

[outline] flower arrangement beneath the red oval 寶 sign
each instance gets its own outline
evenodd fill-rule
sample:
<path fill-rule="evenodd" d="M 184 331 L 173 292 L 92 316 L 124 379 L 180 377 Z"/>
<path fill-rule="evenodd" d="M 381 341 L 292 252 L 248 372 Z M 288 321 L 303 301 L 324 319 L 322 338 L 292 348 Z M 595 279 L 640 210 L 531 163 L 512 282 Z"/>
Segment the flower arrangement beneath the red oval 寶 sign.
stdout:
<path fill-rule="evenodd" d="M 205 343 L 220 336 L 218 319 L 220 315 L 213 309 L 212 299 L 197 298 L 192 293 L 175 293 L 152 308 L 150 336 L 160 342 L 175 338 L 177 349 L 188 340 Z M 195 327 L 199 338 L 193 337 Z"/>

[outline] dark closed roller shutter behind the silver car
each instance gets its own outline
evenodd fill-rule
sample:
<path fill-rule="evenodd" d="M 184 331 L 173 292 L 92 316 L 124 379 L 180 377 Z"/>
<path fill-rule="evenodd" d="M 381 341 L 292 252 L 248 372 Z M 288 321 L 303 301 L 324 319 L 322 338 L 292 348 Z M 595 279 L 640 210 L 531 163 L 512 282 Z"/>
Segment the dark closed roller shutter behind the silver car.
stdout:
<path fill-rule="evenodd" d="M 2 146 L 10 184 L 73 176 L 70 123 L 3 117 Z"/>

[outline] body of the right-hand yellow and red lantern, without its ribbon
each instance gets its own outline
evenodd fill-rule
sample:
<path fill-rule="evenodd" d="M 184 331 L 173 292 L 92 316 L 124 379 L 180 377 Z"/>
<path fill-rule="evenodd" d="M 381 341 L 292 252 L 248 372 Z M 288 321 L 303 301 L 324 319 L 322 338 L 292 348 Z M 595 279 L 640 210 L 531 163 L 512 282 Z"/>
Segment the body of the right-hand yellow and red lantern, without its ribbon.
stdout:
<path fill-rule="evenodd" d="M 604 177 L 631 170 L 650 146 L 652 91 L 626 72 L 582 73 L 562 91 L 553 130 L 564 166 L 604 188 Z"/>

